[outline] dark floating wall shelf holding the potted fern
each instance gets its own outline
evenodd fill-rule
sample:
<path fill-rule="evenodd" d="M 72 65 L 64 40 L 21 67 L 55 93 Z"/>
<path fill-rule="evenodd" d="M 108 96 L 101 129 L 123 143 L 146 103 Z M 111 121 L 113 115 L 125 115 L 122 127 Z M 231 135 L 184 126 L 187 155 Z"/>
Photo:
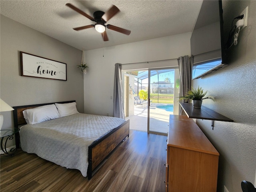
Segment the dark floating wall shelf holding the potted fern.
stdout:
<path fill-rule="evenodd" d="M 223 116 L 222 114 L 219 114 L 204 106 L 201 106 L 201 108 L 194 108 L 192 103 L 180 103 L 180 106 L 188 118 L 212 120 L 212 127 L 214 126 L 214 120 L 234 122 L 234 120 L 227 118 L 226 116 Z"/>

